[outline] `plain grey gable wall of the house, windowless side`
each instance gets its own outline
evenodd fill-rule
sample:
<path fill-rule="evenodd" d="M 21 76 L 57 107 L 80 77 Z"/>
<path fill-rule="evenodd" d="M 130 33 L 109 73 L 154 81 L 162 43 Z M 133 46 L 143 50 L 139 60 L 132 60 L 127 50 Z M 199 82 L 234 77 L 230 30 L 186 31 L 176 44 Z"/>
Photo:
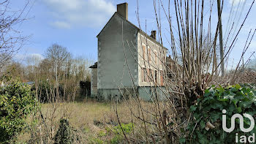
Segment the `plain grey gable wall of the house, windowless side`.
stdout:
<path fill-rule="evenodd" d="M 137 29 L 119 15 L 113 15 L 103 29 L 98 37 L 98 89 L 132 88 L 132 79 L 138 86 L 137 33 Z"/>

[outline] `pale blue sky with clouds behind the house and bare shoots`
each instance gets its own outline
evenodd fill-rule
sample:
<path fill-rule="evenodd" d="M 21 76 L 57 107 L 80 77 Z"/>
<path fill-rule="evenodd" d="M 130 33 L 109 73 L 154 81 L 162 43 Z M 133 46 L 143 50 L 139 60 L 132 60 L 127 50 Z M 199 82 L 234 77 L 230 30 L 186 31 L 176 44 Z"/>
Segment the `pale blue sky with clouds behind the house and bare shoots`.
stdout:
<path fill-rule="evenodd" d="M 167 0 L 163 1 L 166 2 Z M 217 23 L 217 0 L 206 1 L 205 15 L 209 14 L 209 9 L 207 10 L 207 7 L 210 6 L 209 1 L 214 2 L 212 12 L 212 28 L 214 28 L 214 24 Z M 235 22 L 233 29 L 238 31 L 252 1 L 253 0 L 224 0 L 224 9 L 222 12 L 224 39 L 227 39 L 227 29 L 230 28 L 230 23 Z M 21 31 L 21 34 L 29 36 L 29 41 L 26 42 L 26 45 L 24 45 L 15 56 L 18 61 L 24 61 L 29 56 L 39 56 L 43 58 L 45 50 L 54 43 L 66 47 L 73 56 L 83 56 L 97 61 L 96 36 L 113 13 L 116 12 L 116 4 L 123 2 L 128 3 L 129 21 L 139 26 L 136 16 L 136 12 L 138 11 L 140 26 L 143 31 L 150 34 L 151 30 L 157 29 L 153 0 L 11 0 L 10 7 L 12 10 L 20 10 L 27 2 L 29 2 L 29 4 L 23 16 L 28 20 L 20 23 L 17 28 Z M 252 6 L 252 10 L 246 19 L 246 24 L 238 35 L 238 40 L 233 48 L 233 52 L 230 53 L 230 62 L 227 64 L 229 68 L 232 67 L 234 63 L 236 64 L 241 57 L 249 30 L 252 29 L 253 31 L 256 29 L 255 5 L 256 4 Z M 233 12 L 230 17 L 232 6 Z M 167 4 L 164 3 L 164 7 L 167 8 Z M 239 15 L 242 9 L 243 12 Z M 171 1 L 170 14 L 173 21 L 175 21 L 176 15 L 173 1 Z M 167 40 L 170 41 L 170 34 L 169 31 L 167 31 L 169 26 L 163 11 L 160 12 L 160 15 L 162 16 L 163 45 L 166 48 L 170 48 L 167 42 Z M 227 23 L 229 17 L 230 20 L 229 23 Z M 206 16 L 206 18 L 208 17 Z M 204 29 L 207 29 L 207 27 L 204 26 Z M 249 58 L 255 50 L 256 38 L 253 38 L 244 59 Z M 252 56 L 252 58 L 255 58 L 255 56 Z"/>

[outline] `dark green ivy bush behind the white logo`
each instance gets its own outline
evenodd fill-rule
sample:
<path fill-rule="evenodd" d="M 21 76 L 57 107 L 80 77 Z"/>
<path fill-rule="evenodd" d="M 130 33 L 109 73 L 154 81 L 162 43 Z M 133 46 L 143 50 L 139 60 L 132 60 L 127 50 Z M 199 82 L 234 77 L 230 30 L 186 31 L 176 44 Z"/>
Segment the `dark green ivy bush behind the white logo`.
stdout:
<path fill-rule="evenodd" d="M 236 129 L 227 133 L 222 129 L 222 110 L 227 110 L 227 128 L 230 128 L 230 120 L 235 113 L 248 113 L 256 115 L 256 89 L 250 85 L 211 86 L 205 91 L 202 98 L 197 99 L 195 105 L 190 107 L 193 113 L 193 120 L 186 129 L 186 137 L 181 137 L 180 143 L 235 143 L 236 133 L 238 141 L 241 135 L 252 135 L 256 129 L 244 133 L 239 129 L 239 121 L 236 118 Z M 215 126 L 205 129 L 207 123 Z M 208 124 L 209 124 L 208 123 Z M 244 127 L 248 128 L 250 121 L 244 117 Z M 187 133 L 188 132 L 188 133 Z"/>

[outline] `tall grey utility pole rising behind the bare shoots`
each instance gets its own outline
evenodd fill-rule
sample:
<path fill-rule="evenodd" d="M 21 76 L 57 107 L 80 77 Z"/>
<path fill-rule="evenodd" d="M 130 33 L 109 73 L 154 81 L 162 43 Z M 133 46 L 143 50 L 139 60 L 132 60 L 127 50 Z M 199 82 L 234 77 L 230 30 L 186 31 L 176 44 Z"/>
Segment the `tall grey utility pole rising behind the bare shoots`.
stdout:
<path fill-rule="evenodd" d="M 220 61 L 221 65 L 220 68 L 222 70 L 222 76 L 225 75 L 225 69 L 224 69 L 224 59 L 223 59 L 223 43 L 222 43 L 222 13 L 220 11 L 220 0 L 217 0 L 218 5 L 218 18 L 219 18 L 219 55 L 220 55 Z"/>

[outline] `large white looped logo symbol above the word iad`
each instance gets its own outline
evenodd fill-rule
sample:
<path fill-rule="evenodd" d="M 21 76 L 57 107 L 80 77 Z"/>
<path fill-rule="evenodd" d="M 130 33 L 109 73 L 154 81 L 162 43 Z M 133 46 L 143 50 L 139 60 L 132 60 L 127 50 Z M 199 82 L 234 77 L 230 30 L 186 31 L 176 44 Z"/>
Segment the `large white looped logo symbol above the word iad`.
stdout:
<path fill-rule="evenodd" d="M 242 132 L 251 132 L 252 129 L 255 127 L 255 119 L 252 118 L 252 115 L 249 115 L 247 113 L 243 114 L 244 117 L 249 118 L 249 120 L 251 121 L 251 125 L 249 126 L 249 128 L 245 129 L 244 128 L 244 118 L 243 118 L 243 116 L 236 113 L 235 115 L 232 115 L 232 117 L 231 117 L 231 126 L 228 129 L 227 124 L 226 124 L 227 117 L 225 115 L 225 113 L 227 113 L 227 110 L 222 110 L 222 113 L 223 113 L 223 115 L 222 115 L 222 128 L 225 132 L 232 132 L 235 129 L 235 119 L 236 118 L 239 118 L 239 120 L 240 120 L 239 125 L 240 125 L 240 129 L 241 129 Z"/>

